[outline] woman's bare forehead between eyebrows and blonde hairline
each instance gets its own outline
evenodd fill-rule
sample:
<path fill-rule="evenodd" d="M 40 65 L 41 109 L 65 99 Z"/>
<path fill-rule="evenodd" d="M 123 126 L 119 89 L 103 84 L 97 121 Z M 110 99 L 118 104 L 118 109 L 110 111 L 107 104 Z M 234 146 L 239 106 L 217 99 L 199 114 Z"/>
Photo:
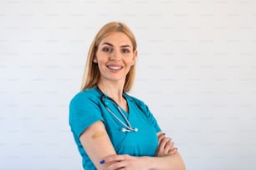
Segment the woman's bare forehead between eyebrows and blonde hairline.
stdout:
<path fill-rule="evenodd" d="M 114 46 L 130 45 L 132 46 L 131 39 L 123 32 L 110 32 L 106 37 L 100 41 L 100 45 L 104 42 L 109 42 Z"/>

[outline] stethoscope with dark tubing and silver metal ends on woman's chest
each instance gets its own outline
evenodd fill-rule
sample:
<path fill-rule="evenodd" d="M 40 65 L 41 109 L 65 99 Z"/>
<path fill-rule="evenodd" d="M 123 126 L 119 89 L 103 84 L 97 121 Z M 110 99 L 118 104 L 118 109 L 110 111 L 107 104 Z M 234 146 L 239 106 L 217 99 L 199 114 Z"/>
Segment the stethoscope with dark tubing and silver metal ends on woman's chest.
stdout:
<path fill-rule="evenodd" d="M 105 108 L 113 115 L 113 117 L 115 117 L 115 119 L 116 119 L 118 122 L 120 122 L 120 123 L 125 127 L 125 128 L 121 128 L 120 131 L 123 132 L 123 133 L 125 133 L 125 132 L 127 132 L 127 133 L 135 132 L 135 133 L 136 133 L 136 132 L 138 132 L 138 131 L 139 131 L 138 128 L 132 128 L 132 127 L 131 127 L 130 121 L 125 117 L 125 114 L 124 114 L 124 112 L 122 112 L 120 106 L 119 106 L 112 98 L 107 97 L 104 92 L 101 92 L 101 90 L 100 90 L 99 87 L 97 87 L 97 89 L 99 90 L 99 92 L 100 92 L 100 94 L 101 94 L 100 102 L 102 102 L 103 105 L 105 106 Z M 115 104 L 115 107 L 116 107 L 117 110 L 120 112 L 121 116 L 125 119 L 125 122 L 126 122 L 126 123 L 123 122 L 122 120 L 120 120 L 120 118 L 117 117 L 117 116 L 115 115 L 115 113 L 110 110 L 110 108 L 109 108 L 109 107 L 105 104 L 105 102 L 103 101 L 104 98 L 109 99 L 111 102 L 113 102 L 113 103 Z"/>

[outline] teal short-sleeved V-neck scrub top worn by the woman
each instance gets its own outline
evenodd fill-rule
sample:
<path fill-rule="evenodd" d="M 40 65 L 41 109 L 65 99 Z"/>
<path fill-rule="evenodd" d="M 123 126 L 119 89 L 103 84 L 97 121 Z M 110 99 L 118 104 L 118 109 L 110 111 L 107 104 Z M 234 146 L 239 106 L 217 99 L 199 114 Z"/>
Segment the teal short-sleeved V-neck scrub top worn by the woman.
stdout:
<path fill-rule="evenodd" d="M 96 87 L 91 87 L 77 93 L 69 104 L 69 125 L 79 153 L 82 156 L 84 169 L 91 170 L 96 168 L 80 143 L 79 136 L 86 128 L 89 128 L 91 124 L 97 121 L 104 123 L 117 154 L 155 156 L 158 147 L 156 133 L 160 132 L 161 129 L 146 104 L 136 97 L 123 94 L 128 104 L 129 113 L 122 108 L 121 110 L 130 121 L 131 127 L 139 129 L 138 132 L 124 133 L 120 129 L 125 127 L 105 108 L 105 105 L 120 120 L 125 122 L 125 119 L 121 116 L 113 101 L 104 97 L 104 105 L 101 96 L 102 94 Z"/>

